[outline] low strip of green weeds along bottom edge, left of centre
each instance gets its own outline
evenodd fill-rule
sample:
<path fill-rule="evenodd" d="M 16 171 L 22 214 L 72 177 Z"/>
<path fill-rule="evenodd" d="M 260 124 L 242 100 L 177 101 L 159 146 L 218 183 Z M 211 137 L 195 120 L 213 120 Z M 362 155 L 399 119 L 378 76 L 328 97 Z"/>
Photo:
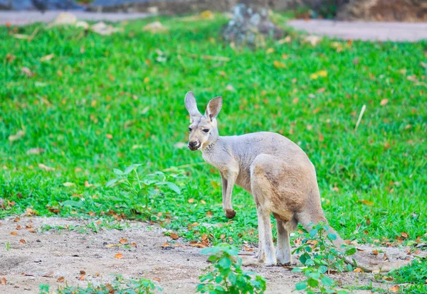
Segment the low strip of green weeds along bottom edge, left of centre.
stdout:
<path fill-rule="evenodd" d="M 127 279 L 116 275 L 111 283 L 103 285 L 89 284 L 87 288 L 70 287 L 58 289 L 58 294 L 86 294 L 86 293 L 115 293 L 115 294 L 154 294 L 161 292 L 162 288 L 153 281 L 140 278 L 139 280 Z"/>

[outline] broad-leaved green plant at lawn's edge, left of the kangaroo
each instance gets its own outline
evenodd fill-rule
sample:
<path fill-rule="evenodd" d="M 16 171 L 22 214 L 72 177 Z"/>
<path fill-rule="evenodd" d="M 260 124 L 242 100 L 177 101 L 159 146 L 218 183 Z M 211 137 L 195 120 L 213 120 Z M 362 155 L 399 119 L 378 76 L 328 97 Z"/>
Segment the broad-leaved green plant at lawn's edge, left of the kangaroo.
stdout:
<path fill-rule="evenodd" d="M 105 186 L 121 186 L 125 188 L 125 197 L 120 198 L 120 201 L 125 202 L 125 205 L 132 214 L 143 214 L 151 219 L 157 209 L 157 197 L 164 191 L 163 187 L 167 187 L 176 194 L 181 194 L 181 189 L 171 182 L 173 178 L 181 177 L 180 174 L 167 175 L 161 171 L 150 173 L 149 175 L 139 175 L 137 168 L 141 164 L 131 164 L 125 170 L 115 168 L 113 171 L 116 178 L 109 180 Z"/>

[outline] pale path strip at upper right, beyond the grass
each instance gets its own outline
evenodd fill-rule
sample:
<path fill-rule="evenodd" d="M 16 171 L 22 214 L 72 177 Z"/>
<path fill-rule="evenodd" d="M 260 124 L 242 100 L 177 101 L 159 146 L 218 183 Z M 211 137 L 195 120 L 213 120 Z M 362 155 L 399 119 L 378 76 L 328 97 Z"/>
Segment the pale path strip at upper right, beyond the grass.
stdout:
<path fill-rule="evenodd" d="M 288 25 L 297 30 L 345 40 L 416 42 L 427 39 L 427 23 L 293 20 L 288 21 Z"/>

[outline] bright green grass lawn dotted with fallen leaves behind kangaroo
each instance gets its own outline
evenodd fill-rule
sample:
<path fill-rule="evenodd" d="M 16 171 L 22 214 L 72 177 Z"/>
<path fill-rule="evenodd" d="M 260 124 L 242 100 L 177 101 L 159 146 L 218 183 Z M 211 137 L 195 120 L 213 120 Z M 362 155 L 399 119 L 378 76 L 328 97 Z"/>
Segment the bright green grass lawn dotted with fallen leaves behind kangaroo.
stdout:
<path fill-rule="evenodd" d="M 188 239 L 255 241 L 251 195 L 234 190 L 237 216 L 228 222 L 216 170 L 176 146 L 188 136 L 184 95 L 192 90 L 199 109 L 223 96 L 220 134 L 275 131 L 297 142 L 344 239 L 427 240 L 426 41 L 313 46 L 290 32 L 290 43 L 237 50 L 221 40 L 220 16 L 160 20 L 167 33 L 142 31 L 152 19 L 123 23 L 112 36 L 0 28 L 0 218 L 147 218 L 139 214 L 145 195 L 105 187 L 113 168 L 142 163 L 139 176 L 164 170 L 181 190 L 159 186 L 153 220 Z M 36 28 L 31 41 L 12 36 Z"/>

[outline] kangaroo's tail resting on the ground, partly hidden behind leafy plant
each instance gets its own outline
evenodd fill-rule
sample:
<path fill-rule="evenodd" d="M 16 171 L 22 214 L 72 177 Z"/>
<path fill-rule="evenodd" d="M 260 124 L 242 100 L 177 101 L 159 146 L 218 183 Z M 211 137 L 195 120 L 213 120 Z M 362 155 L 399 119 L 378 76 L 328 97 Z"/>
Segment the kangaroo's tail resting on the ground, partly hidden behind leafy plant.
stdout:
<path fill-rule="evenodd" d="M 303 219 L 300 218 L 299 222 L 300 224 L 302 224 L 302 227 L 307 229 L 307 231 L 309 232 L 312 229 L 312 224 L 315 224 L 317 222 L 325 222 L 325 224 L 327 224 L 327 226 L 329 227 L 329 232 L 337 236 L 337 239 L 333 241 L 334 246 L 336 246 L 337 249 L 341 249 L 341 246 L 345 244 L 341 236 L 339 236 L 339 234 L 327 223 L 327 220 L 325 219 L 325 217 L 322 217 L 320 220 L 317 220 L 316 222 L 305 222 Z M 362 254 L 360 254 L 359 251 L 357 251 L 356 254 L 352 256 L 347 256 L 345 261 L 351 264 L 352 266 L 357 266 L 358 268 L 362 268 L 363 271 L 367 271 L 367 272 L 378 271 L 381 273 L 387 273 L 389 271 L 392 271 L 396 268 L 400 268 L 402 266 L 406 266 L 408 264 L 408 262 L 406 261 L 376 261 L 372 258 L 367 258 L 365 256 L 362 256 Z"/>

